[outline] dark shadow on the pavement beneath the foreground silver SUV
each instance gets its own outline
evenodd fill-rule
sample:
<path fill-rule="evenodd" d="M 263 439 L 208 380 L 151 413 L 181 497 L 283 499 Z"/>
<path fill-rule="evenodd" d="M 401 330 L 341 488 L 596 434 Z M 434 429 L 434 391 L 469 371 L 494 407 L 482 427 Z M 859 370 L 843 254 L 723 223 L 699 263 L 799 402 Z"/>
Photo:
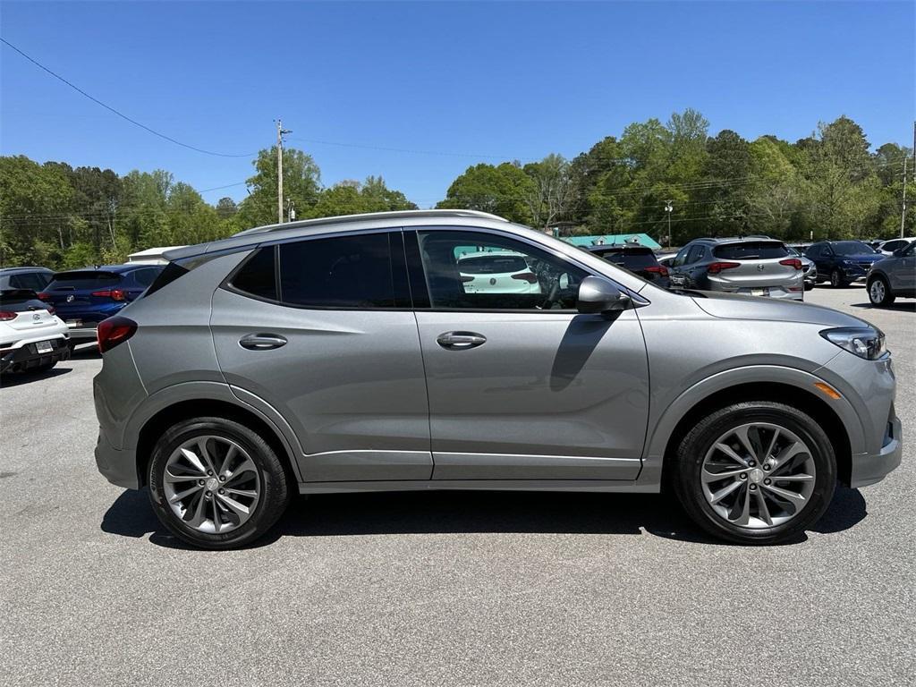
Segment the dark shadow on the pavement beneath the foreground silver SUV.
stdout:
<path fill-rule="evenodd" d="M 837 489 L 831 507 L 812 531 L 849 529 L 867 516 L 857 489 Z M 104 514 L 102 529 L 149 540 L 167 548 L 190 549 L 173 537 L 153 513 L 145 491 L 125 491 Z M 333 494 L 297 498 L 267 536 L 252 547 L 283 537 L 340 537 L 373 534 L 631 534 L 728 545 L 692 524 L 670 496 L 551 492 L 393 492 Z M 801 535 L 785 542 L 796 544 Z"/>

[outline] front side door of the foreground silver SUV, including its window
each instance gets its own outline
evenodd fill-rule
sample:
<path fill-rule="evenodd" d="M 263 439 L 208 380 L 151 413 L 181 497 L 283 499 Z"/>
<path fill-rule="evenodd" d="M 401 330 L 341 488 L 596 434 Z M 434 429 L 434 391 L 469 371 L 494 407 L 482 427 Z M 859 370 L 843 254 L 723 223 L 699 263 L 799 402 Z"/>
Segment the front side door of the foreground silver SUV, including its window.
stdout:
<path fill-rule="evenodd" d="M 431 228 L 405 240 L 433 480 L 635 479 L 649 411 L 636 312 L 579 314 L 589 272 L 517 237 Z M 468 247 L 524 256 L 540 289 L 463 289 Z"/>

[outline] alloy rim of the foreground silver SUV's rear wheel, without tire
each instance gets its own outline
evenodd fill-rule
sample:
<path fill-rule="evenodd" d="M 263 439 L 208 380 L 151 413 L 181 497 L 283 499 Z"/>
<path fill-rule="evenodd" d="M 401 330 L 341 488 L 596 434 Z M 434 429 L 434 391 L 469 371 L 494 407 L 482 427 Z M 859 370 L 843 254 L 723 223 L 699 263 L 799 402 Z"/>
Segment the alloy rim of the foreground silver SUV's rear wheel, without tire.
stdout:
<path fill-rule="evenodd" d="M 194 437 L 175 449 L 162 486 L 172 513 L 207 534 L 244 525 L 261 495 L 261 477 L 251 456 L 238 443 L 214 435 Z"/>

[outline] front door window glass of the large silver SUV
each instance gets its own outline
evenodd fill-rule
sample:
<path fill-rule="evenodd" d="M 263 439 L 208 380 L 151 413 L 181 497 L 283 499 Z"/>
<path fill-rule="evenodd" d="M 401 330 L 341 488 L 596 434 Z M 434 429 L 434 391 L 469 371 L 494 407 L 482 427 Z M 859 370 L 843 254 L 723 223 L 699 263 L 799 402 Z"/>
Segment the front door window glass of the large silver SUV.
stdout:
<path fill-rule="evenodd" d="M 498 234 L 420 231 L 431 307 L 442 310 L 575 310 L 588 273 Z"/>

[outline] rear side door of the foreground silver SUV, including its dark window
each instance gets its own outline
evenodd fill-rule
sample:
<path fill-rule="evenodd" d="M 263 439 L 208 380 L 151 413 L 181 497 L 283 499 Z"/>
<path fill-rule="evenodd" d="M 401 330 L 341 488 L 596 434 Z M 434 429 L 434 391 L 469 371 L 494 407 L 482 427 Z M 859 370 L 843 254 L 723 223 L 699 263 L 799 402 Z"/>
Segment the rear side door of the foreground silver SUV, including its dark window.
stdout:
<path fill-rule="evenodd" d="M 428 480 L 429 405 L 400 230 L 263 245 L 213 294 L 225 380 L 276 409 L 309 482 Z"/>

